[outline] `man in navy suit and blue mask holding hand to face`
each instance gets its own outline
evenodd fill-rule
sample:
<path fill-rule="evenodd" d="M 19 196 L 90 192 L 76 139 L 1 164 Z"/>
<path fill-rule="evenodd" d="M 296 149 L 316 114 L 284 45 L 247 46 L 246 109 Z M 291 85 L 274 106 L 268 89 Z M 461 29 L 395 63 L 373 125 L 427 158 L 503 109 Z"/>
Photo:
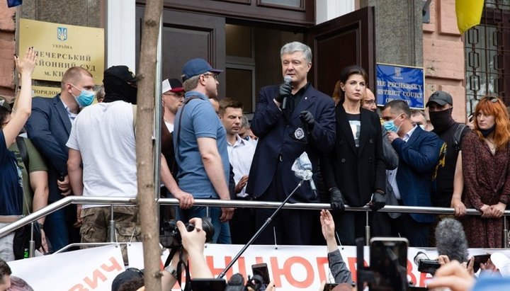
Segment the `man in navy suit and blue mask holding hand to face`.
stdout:
<path fill-rule="evenodd" d="M 382 108 L 387 138 L 399 155 L 399 166 L 389 171 L 388 181 L 400 205 L 425 206 L 431 203 L 431 175 L 438 163 L 443 142 L 422 130 L 411 120 L 407 102 L 394 100 Z M 409 239 L 411 246 L 429 245 L 429 227 L 433 215 L 404 213 L 397 222 L 397 231 Z"/>

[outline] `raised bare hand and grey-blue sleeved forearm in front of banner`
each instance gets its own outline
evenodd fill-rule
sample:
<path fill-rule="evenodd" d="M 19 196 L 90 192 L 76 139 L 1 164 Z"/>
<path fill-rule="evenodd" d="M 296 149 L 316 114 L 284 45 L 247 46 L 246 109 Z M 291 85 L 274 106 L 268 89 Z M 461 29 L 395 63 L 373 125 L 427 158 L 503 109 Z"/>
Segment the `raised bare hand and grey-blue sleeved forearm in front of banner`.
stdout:
<path fill-rule="evenodd" d="M 336 245 L 334 221 L 329 210 L 321 210 L 320 221 L 322 235 L 327 242 L 329 269 L 331 270 L 331 275 L 333 275 L 335 283 L 353 284 L 351 271 L 348 270 L 338 249 L 338 245 Z"/>

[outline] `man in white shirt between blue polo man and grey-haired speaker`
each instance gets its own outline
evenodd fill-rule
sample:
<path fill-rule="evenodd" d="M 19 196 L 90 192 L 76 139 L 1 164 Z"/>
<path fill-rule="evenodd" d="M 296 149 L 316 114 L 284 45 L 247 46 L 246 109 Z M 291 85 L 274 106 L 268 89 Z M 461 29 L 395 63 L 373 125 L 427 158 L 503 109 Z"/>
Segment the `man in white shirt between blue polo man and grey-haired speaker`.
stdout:
<path fill-rule="evenodd" d="M 240 101 L 225 98 L 220 101 L 218 115 L 227 131 L 227 151 L 234 171 L 235 194 L 237 199 L 249 200 L 246 183 L 255 153 L 255 145 L 239 136 L 242 123 L 243 105 Z M 249 208 L 238 208 L 230 220 L 232 244 L 246 244 L 255 230 L 254 212 Z"/>

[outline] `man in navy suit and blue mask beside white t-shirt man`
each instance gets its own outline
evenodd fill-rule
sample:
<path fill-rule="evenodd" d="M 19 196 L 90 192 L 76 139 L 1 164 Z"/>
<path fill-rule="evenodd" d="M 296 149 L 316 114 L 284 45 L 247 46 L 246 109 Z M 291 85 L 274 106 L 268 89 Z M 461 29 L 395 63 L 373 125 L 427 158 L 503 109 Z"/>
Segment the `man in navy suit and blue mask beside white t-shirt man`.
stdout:
<path fill-rule="evenodd" d="M 60 94 L 53 98 L 33 98 L 32 115 L 26 124 L 28 137 L 48 166 L 48 204 L 72 194 L 67 176 L 66 142 L 80 107 L 90 105 L 95 96 L 94 79 L 89 71 L 81 67 L 68 69 L 62 76 L 60 88 Z M 74 222 L 74 205 L 47 216 L 45 233 L 54 251 L 70 242 L 79 242 L 78 228 L 72 225 Z"/>

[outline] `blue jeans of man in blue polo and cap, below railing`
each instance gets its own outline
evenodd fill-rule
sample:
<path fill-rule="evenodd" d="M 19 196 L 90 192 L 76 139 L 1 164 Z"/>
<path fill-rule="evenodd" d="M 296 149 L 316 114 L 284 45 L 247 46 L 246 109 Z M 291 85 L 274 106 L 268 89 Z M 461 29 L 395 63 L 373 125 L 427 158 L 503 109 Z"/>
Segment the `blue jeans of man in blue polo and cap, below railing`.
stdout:
<path fill-rule="evenodd" d="M 207 216 L 205 211 L 207 207 L 195 206 L 190 209 L 183 210 L 176 207 L 176 219 L 181 220 L 184 223 L 188 223 L 189 219 L 193 217 L 203 218 Z M 221 208 L 209 207 L 209 216 L 212 227 L 215 229 L 215 233 L 212 235 L 212 244 L 232 244 L 230 239 L 230 228 L 228 222 L 220 222 Z"/>

